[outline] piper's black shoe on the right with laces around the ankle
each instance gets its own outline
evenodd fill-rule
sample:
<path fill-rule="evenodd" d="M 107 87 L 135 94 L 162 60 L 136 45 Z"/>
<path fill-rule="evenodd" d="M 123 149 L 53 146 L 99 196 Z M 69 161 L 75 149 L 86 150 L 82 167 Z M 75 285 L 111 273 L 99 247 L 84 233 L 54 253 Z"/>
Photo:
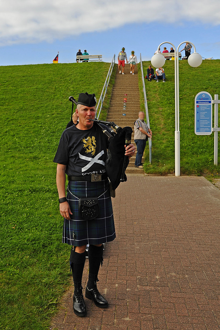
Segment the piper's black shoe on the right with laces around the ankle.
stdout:
<path fill-rule="evenodd" d="M 101 293 L 99 292 L 96 282 L 98 281 L 97 278 L 97 274 L 90 274 L 89 273 L 89 283 L 93 282 L 93 288 L 92 289 L 88 289 L 88 286 L 86 286 L 85 289 L 85 297 L 93 300 L 94 304 L 97 307 L 100 308 L 107 308 L 109 306 L 108 301 L 101 295 Z"/>

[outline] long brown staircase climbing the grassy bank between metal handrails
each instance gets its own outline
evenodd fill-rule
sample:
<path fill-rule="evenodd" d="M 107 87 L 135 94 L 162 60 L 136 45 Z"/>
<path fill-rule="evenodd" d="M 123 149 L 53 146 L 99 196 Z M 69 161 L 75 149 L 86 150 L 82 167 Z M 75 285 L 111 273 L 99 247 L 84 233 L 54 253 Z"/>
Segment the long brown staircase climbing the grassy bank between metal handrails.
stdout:
<path fill-rule="evenodd" d="M 113 121 L 121 127 L 130 126 L 134 131 L 134 122 L 140 111 L 140 92 L 138 86 L 138 70 L 135 66 L 134 75 L 130 74 L 130 64 L 125 64 L 124 75 L 119 74 L 117 67 L 115 83 L 112 89 L 107 121 Z M 125 114 L 125 116 L 123 116 Z M 131 143 L 134 142 L 134 132 Z M 135 167 L 135 156 L 130 159 L 126 173 L 144 174 L 143 169 Z M 142 159 L 143 161 L 143 159 Z"/>

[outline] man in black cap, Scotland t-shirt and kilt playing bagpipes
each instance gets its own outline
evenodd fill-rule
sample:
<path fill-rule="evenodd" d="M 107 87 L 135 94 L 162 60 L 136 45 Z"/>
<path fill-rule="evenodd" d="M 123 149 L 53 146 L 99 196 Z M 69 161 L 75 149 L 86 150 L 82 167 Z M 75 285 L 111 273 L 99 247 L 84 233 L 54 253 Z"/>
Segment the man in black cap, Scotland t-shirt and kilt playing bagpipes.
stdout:
<path fill-rule="evenodd" d="M 53 161 L 57 163 L 56 183 L 60 214 L 64 218 L 62 243 L 71 245 L 73 310 L 76 315 L 85 316 L 82 274 L 86 245 L 89 244 L 89 275 L 85 297 L 97 307 L 106 308 L 109 304 L 99 292 L 97 281 L 103 261 L 102 244 L 115 239 L 115 227 L 105 168 L 109 141 L 95 122 L 89 120 L 96 114 L 95 94 L 79 94 L 76 114 L 79 122 L 64 130 Z M 106 129 L 109 130 L 107 126 Z M 135 146 L 125 147 L 125 155 L 130 158 Z"/>

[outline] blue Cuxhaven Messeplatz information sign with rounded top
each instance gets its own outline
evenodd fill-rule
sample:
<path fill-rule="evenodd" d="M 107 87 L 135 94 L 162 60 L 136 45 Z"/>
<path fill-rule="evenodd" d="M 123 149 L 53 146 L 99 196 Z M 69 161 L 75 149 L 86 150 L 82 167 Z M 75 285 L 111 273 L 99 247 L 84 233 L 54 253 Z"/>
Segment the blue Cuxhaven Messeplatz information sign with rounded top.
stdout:
<path fill-rule="evenodd" d="M 212 97 L 208 92 L 200 92 L 195 97 L 195 133 L 212 133 Z"/>

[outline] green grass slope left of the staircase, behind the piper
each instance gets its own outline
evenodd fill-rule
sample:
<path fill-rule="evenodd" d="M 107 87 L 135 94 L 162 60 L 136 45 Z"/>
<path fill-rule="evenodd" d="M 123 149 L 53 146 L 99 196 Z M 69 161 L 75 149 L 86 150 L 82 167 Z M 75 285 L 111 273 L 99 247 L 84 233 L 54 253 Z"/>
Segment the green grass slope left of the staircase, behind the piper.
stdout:
<path fill-rule="evenodd" d="M 70 120 L 68 97 L 87 91 L 99 99 L 109 66 L 0 67 L 0 329 L 47 329 L 67 287 L 53 157 Z"/>

